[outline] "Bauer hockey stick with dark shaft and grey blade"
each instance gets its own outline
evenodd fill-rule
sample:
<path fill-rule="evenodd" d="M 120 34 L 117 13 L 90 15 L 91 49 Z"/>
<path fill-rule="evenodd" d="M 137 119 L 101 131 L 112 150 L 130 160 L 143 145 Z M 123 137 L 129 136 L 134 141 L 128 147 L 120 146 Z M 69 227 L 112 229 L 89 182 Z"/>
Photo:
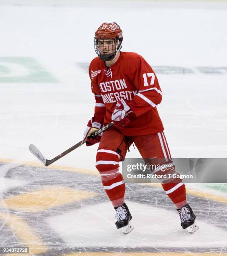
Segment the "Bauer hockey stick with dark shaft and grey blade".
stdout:
<path fill-rule="evenodd" d="M 94 136 L 99 135 L 100 133 L 102 133 L 103 131 L 106 131 L 108 128 L 110 128 L 113 125 L 113 123 L 108 123 L 107 125 L 103 126 L 101 129 L 97 130 L 94 134 Z M 45 166 L 48 166 L 52 163 L 54 163 L 55 161 L 57 161 L 58 159 L 60 159 L 61 157 L 67 155 L 69 152 L 73 151 L 76 148 L 79 148 L 79 146 L 83 145 L 86 141 L 84 141 L 82 143 L 82 141 L 78 142 L 77 144 L 75 144 L 74 146 L 72 146 L 71 148 L 67 149 L 66 151 L 64 151 L 63 153 L 61 153 L 60 155 L 54 157 L 53 159 L 46 159 L 43 154 L 38 150 L 38 148 L 36 148 L 36 146 L 34 146 L 33 144 L 29 145 L 29 150 L 30 152 L 36 156 Z"/>

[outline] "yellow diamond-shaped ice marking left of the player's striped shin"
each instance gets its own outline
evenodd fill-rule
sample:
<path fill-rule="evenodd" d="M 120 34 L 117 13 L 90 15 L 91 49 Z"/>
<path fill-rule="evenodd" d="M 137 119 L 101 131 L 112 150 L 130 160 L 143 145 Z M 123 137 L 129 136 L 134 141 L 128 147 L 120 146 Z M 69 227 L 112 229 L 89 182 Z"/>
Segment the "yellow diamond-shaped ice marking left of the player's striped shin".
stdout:
<path fill-rule="evenodd" d="M 99 195 L 96 192 L 69 187 L 48 186 L 30 193 L 22 193 L 0 200 L 0 207 L 23 212 L 40 212 L 72 202 L 78 202 Z"/>

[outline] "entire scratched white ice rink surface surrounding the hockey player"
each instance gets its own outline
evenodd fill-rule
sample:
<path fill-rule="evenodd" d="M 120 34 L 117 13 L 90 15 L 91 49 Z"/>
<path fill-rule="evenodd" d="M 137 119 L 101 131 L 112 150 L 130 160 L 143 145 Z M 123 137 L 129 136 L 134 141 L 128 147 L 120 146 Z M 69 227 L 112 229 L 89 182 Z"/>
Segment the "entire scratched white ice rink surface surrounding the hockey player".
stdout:
<path fill-rule="evenodd" d="M 161 188 L 127 184 L 135 230 L 123 236 L 94 168 L 97 145 L 54 169 L 38 167 L 28 151 L 33 143 L 51 159 L 81 141 L 94 111 L 87 74 L 94 31 L 116 21 L 123 50 L 156 67 L 171 155 L 226 157 L 226 11 L 224 1 L 0 2 L 1 246 L 41 255 L 227 252 L 222 185 L 187 186 L 200 226 L 191 236 Z M 127 156 L 140 157 L 133 148 Z"/>

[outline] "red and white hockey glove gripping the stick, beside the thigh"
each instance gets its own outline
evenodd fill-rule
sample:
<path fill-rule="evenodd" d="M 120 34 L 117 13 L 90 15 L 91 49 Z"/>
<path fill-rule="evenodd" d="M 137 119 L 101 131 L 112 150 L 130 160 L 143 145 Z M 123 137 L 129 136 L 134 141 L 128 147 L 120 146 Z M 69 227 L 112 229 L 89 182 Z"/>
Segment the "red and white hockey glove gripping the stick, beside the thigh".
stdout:
<path fill-rule="evenodd" d="M 82 142 L 86 141 L 86 146 L 92 146 L 95 143 L 99 143 L 101 140 L 101 136 L 94 136 L 92 133 L 95 133 L 95 131 L 99 130 L 101 128 L 101 124 L 94 122 L 94 118 L 89 120 L 87 123 L 87 129 L 84 131 L 84 137 Z"/>

